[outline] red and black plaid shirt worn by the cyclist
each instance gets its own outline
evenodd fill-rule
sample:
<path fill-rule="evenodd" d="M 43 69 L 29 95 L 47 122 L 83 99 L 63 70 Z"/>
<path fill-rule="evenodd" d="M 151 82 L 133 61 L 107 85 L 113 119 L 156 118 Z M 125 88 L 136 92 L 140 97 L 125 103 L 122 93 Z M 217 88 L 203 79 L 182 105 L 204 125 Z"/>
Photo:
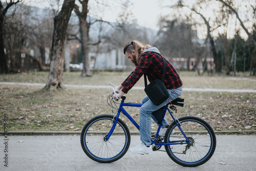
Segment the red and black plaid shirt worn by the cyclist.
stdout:
<path fill-rule="evenodd" d="M 165 59 L 165 58 L 164 58 Z M 180 76 L 172 63 L 167 59 L 166 62 L 166 74 L 164 78 L 164 84 L 167 89 L 177 89 L 182 86 Z M 155 52 L 145 52 L 141 55 L 138 66 L 135 70 L 123 81 L 122 92 L 127 93 L 135 83 L 140 79 L 143 74 L 147 75 L 148 81 L 152 82 L 155 79 L 163 79 L 163 59 Z"/>

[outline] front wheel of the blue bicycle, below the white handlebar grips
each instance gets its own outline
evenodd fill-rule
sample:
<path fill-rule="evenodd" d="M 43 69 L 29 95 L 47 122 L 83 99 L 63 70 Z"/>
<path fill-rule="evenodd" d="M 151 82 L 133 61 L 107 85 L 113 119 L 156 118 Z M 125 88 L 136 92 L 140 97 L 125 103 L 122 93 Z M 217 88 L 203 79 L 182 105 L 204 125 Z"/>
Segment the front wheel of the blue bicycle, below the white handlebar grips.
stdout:
<path fill-rule="evenodd" d="M 120 159 L 128 150 L 131 135 L 126 124 L 118 119 L 114 132 L 104 141 L 114 123 L 113 115 L 99 115 L 84 125 L 80 141 L 88 157 L 100 163 L 110 163 Z"/>

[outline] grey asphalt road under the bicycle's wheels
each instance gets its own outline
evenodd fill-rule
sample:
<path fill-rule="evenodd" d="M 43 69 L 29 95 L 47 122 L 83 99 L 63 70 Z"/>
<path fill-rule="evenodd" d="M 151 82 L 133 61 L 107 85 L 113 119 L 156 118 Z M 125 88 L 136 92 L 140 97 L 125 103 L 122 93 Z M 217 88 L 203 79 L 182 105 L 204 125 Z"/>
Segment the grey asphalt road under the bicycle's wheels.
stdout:
<path fill-rule="evenodd" d="M 160 151 L 150 156 L 128 151 L 114 163 L 98 163 L 84 154 L 79 136 L 8 136 L 7 144 L 0 138 L 0 170 L 256 170 L 255 135 L 217 136 L 215 154 L 195 168 L 180 166 Z M 130 147 L 139 144 L 139 136 L 132 136 Z"/>

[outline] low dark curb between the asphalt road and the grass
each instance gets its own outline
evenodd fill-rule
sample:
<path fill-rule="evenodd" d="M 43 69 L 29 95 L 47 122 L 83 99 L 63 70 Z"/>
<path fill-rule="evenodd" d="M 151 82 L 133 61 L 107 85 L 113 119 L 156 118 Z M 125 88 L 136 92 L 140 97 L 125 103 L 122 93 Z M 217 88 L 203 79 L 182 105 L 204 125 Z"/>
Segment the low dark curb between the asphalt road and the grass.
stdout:
<path fill-rule="evenodd" d="M 155 134 L 156 132 L 152 132 Z M 9 131 L 8 135 L 19 135 L 19 136 L 26 136 L 26 135 L 80 135 L 81 131 Z M 130 132 L 131 135 L 139 135 L 139 132 Z M 215 134 L 222 135 L 222 134 L 249 134 L 249 135 L 256 135 L 255 131 L 215 131 Z M 0 132 L 0 136 L 4 136 L 4 132 Z"/>

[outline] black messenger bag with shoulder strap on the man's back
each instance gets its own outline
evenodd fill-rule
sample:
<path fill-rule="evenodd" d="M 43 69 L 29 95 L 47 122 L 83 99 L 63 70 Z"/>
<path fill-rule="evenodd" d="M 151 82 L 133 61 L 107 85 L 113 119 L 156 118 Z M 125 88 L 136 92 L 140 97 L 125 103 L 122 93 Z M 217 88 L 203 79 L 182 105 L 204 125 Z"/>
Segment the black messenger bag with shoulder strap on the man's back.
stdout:
<path fill-rule="evenodd" d="M 161 56 L 163 58 L 163 56 Z M 155 105 L 159 105 L 167 98 L 169 98 L 169 93 L 164 85 L 164 77 L 165 77 L 165 71 L 166 71 L 166 63 L 163 58 L 163 79 L 162 81 L 160 79 L 155 79 L 150 84 L 147 85 L 146 81 L 146 75 L 144 74 L 144 82 L 145 82 L 145 93 L 146 95 L 151 99 L 151 101 Z"/>

